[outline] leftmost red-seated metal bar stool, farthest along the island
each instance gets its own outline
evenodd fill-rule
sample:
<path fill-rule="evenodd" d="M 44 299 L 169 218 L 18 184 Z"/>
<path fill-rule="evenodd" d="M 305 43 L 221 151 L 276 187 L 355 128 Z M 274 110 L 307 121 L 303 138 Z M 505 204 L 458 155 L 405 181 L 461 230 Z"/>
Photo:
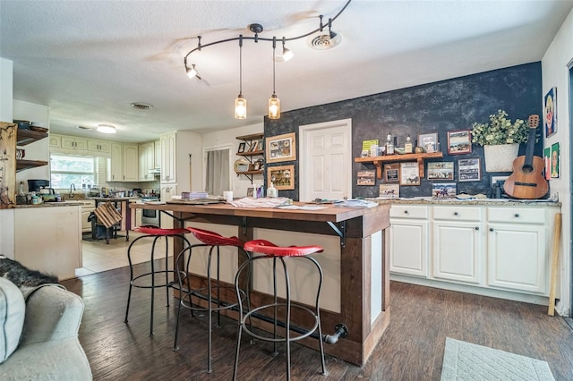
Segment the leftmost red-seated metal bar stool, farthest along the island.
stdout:
<path fill-rule="evenodd" d="M 169 242 L 167 241 L 167 237 L 178 237 L 181 240 L 184 241 L 184 244 L 187 245 L 187 247 L 191 246 L 191 242 L 189 240 L 187 240 L 184 237 L 185 233 L 189 233 L 189 231 L 187 229 L 162 229 L 158 226 L 152 226 L 152 225 L 144 225 L 144 226 L 139 226 L 133 229 L 133 232 L 137 232 L 137 233 L 143 233 L 145 235 L 141 235 L 140 237 L 137 237 L 135 240 L 133 240 L 133 242 L 129 245 L 129 248 L 127 249 L 127 259 L 129 260 L 129 273 L 130 273 L 130 281 L 129 281 L 129 294 L 127 296 L 127 308 L 125 309 L 125 320 L 124 322 L 127 323 L 128 322 L 128 314 L 129 314 L 129 306 L 130 306 L 130 302 L 132 300 L 132 289 L 133 287 L 137 287 L 137 288 L 149 288 L 151 290 L 151 322 L 150 322 L 150 336 L 153 335 L 153 309 L 155 307 L 154 305 L 154 292 L 156 288 L 159 287 L 165 287 L 166 288 L 166 294 L 167 294 L 167 307 L 169 307 L 169 288 L 173 287 L 173 285 L 175 284 L 175 271 L 174 270 L 168 270 L 167 268 L 169 267 L 169 262 L 167 257 L 169 256 Z M 140 241 L 142 239 L 145 238 L 153 238 L 153 245 L 151 246 L 151 271 L 149 273 L 144 273 L 144 274 L 140 274 L 140 275 L 136 275 L 133 276 L 133 264 L 132 264 L 132 248 L 133 248 L 133 244 L 135 244 L 135 242 Z M 156 271 L 155 270 L 155 245 L 158 241 L 159 238 L 163 237 L 165 239 L 165 270 L 164 271 Z M 160 275 L 161 273 L 165 274 L 165 281 L 162 281 L 162 283 L 156 284 L 155 282 L 155 277 L 156 275 Z M 173 274 L 174 275 L 174 279 L 172 281 L 169 281 L 169 274 Z M 148 279 L 147 283 L 144 283 L 143 280 L 144 279 Z M 151 281 L 151 284 L 149 284 L 149 279 Z M 136 282 L 140 280 L 140 282 Z"/>

